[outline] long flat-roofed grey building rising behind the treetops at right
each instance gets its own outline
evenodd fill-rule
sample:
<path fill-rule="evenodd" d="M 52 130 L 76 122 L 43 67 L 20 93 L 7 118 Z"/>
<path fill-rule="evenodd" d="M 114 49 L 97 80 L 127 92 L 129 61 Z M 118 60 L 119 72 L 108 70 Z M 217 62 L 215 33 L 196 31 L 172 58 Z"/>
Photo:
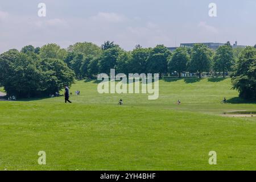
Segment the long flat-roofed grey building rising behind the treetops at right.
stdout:
<path fill-rule="evenodd" d="M 195 44 L 204 44 L 210 49 L 216 50 L 220 46 L 224 46 L 224 43 L 181 43 L 180 47 L 193 47 Z M 232 48 L 245 48 L 246 46 L 238 46 L 237 41 L 233 44 Z M 177 47 L 167 47 L 171 52 L 175 51 Z"/>

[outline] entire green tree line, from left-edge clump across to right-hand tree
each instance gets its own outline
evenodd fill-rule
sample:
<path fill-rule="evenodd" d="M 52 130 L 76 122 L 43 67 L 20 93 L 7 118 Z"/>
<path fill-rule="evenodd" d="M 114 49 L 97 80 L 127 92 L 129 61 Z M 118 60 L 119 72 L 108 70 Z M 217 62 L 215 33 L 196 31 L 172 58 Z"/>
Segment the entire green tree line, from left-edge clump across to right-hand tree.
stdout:
<path fill-rule="evenodd" d="M 0 55 L 0 85 L 8 94 L 18 97 L 46 96 L 59 92 L 64 84 L 71 85 L 75 79 L 95 78 L 98 73 L 109 73 L 114 68 L 117 73 L 159 73 L 160 77 L 181 77 L 184 72 L 199 77 L 203 72 L 221 72 L 223 77 L 232 73 L 234 89 L 239 90 L 235 78 L 242 72 L 237 72 L 241 69 L 238 65 L 245 60 L 247 49 L 255 47 L 232 49 L 228 42 L 216 51 L 195 44 L 192 48 L 179 47 L 170 52 L 163 45 L 154 48 L 137 45 L 132 51 L 125 51 L 109 41 L 101 47 L 82 42 L 67 49 L 57 44 L 40 48 L 30 45 Z"/>

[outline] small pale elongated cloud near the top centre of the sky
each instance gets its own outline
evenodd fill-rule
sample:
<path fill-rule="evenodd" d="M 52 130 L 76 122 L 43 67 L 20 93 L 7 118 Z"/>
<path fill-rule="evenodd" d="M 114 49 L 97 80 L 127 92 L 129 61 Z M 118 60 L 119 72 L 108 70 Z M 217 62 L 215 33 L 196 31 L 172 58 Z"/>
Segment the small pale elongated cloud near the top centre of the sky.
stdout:
<path fill-rule="evenodd" d="M 116 14 L 116 13 L 104 13 L 104 12 L 100 12 L 95 16 L 91 16 L 89 19 L 97 22 L 110 22 L 110 23 L 121 23 L 127 20 L 127 18 L 123 15 Z"/>

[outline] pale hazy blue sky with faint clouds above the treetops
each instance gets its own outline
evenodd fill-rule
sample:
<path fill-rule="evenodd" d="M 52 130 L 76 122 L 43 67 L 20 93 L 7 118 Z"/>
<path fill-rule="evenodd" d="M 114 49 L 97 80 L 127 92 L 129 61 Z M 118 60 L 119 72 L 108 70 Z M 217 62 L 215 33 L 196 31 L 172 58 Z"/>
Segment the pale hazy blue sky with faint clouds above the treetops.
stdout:
<path fill-rule="evenodd" d="M 46 16 L 39 17 L 39 3 Z M 217 17 L 209 16 L 209 4 Z M 0 1 L 0 53 L 48 43 L 100 46 L 110 40 L 127 51 L 135 45 L 237 40 L 256 44 L 256 0 L 8 0 Z"/>

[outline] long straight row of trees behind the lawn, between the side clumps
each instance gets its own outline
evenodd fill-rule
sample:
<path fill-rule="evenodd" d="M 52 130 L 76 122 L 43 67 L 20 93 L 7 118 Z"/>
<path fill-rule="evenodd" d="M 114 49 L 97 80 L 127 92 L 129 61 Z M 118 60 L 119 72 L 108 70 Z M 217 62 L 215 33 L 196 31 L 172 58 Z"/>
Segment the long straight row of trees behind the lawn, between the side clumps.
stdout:
<path fill-rule="evenodd" d="M 181 76 L 183 72 L 198 73 L 199 77 L 202 72 L 222 72 L 225 76 L 232 71 L 241 51 L 233 50 L 229 42 L 217 51 L 196 44 L 193 48 L 177 48 L 173 53 L 163 45 L 155 48 L 138 45 L 133 51 L 124 51 L 113 42 L 105 42 L 101 48 L 85 42 L 69 46 L 64 61 L 77 79 L 109 73 L 110 68 L 115 68 L 118 73 L 159 73 L 160 76 L 168 73 Z"/>

